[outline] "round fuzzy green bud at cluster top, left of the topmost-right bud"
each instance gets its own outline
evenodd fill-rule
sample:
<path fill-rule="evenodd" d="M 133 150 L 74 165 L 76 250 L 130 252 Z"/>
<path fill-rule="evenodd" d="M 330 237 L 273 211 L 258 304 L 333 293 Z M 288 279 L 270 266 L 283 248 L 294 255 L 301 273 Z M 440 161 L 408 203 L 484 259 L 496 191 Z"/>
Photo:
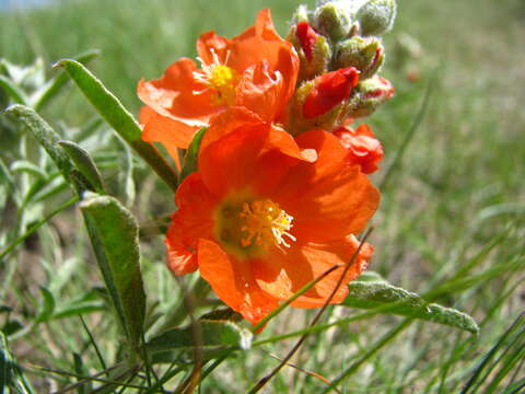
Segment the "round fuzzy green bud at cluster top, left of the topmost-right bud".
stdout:
<path fill-rule="evenodd" d="M 350 31 L 350 15 L 337 2 L 327 2 L 319 5 L 314 12 L 315 27 L 332 39 L 343 39 Z"/>

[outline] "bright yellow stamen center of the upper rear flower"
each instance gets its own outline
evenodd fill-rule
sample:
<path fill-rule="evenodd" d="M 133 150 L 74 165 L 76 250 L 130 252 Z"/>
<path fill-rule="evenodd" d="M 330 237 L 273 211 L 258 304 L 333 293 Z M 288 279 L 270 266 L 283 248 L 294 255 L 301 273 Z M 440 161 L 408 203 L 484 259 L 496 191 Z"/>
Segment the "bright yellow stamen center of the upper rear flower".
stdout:
<path fill-rule="evenodd" d="M 238 73 L 235 69 L 228 67 L 229 56 L 224 63 L 221 63 L 219 56 L 212 50 L 213 62 L 207 65 L 202 59 L 198 58 L 201 63 L 202 71 L 195 71 L 194 78 L 203 83 L 207 88 L 200 92 L 194 92 L 200 94 L 206 91 L 211 91 L 213 105 L 233 105 L 235 102 L 235 88 L 238 82 Z"/>

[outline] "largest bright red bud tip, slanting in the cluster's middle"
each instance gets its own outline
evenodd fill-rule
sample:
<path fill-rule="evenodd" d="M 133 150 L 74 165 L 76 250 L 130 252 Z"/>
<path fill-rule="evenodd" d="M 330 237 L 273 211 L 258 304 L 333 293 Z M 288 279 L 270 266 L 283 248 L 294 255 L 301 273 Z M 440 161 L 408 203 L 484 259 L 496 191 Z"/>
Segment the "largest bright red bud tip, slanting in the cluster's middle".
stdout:
<path fill-rule="evenodd" d="M 359 82 L 359 72 L 353 67 L 320 76 L 303 104 L 305 118 L 326 114 L 347 100 Z"/>

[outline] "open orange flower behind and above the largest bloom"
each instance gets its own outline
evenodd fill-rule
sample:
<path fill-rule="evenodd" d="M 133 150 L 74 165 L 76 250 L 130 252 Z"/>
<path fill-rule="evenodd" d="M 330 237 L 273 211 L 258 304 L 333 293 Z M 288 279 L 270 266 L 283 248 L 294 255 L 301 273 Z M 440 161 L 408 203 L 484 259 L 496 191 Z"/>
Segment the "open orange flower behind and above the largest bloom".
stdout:
<path fill-rule="evenodd" d="M 140 114 L 143 140 L 162 142 L 176 157 L 176 148 L 187 148 L 197 129 L 230 106 L 244 106 L 268 121 L 284 116 L 299 58 L 277 34 L 269 10 L 233 39 L 202 34 L 197 51 L 200 69 L 183 58 L 161 79 L 139 82 L 138 95 L 147 104 Z"/>

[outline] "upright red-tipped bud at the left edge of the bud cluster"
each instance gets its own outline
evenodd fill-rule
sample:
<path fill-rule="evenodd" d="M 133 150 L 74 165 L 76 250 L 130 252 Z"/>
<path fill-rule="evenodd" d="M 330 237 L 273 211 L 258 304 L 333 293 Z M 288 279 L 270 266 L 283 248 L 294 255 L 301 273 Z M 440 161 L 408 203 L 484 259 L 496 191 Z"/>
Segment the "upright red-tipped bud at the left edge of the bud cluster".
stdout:
<path fill-rule="evenodd" d="M 331 49 L 326 37 L 318 34 L 308 22 L 299 22 L 289 36 L 299 54 L 299 80 L 311 80 L 328 70 Z"/>

